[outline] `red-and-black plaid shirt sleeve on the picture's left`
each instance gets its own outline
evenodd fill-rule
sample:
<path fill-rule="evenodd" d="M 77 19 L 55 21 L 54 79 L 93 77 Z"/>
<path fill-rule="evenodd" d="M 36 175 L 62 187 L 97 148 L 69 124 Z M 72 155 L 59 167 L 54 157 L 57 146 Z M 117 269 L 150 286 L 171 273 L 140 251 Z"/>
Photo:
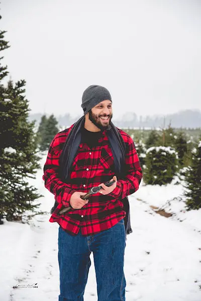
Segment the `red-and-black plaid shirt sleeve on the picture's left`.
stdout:
<path fill-rule="evenodd" d="M 62 139 L 63 136 L 57 133 L 50 144 L 44 165 L 43 180 L 45 181 L 45 187 L 54 194 L 55 201 L 69 207 L 70 197 L 75 190 L 73 190 L 70 185 L 62 182 L 58 175 L 59 157 L 62 152 L 60 148 Z"/>

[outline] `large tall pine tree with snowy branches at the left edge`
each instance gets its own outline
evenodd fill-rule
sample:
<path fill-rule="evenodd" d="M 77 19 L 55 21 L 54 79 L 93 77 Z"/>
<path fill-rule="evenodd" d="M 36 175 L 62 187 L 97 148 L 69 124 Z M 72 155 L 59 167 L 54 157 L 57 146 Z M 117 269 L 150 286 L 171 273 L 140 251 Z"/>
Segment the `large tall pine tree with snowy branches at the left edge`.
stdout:
<path fill-rule="evenodd" d="M 1 51 L 8 48 L 4 33 L 0 33 Z M 1 65 L 0 73 L 2 80 L 8 74 L 7 67 Z M 34 201 L 41 195 L 28 183 L 28 178 L 35 179 L 40 158 L 36 155 L 34 122 L 28 122 L 25 83 L 0 84 L 0 217 L 9 221 L 22 220 L 27 211 L 36 212 L 40 205 Z"/>

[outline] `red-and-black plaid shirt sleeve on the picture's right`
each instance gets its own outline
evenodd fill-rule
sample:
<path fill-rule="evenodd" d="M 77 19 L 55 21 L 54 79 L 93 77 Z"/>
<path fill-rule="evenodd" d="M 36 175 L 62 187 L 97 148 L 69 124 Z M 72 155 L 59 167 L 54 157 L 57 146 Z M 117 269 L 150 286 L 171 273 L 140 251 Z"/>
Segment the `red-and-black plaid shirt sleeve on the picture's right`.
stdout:
<path fill-rule="evenodd" d="M 114 199 L 124 199 L 139 189 L 142 179 L 142 169 L 133 139 L 128 136 L 128 146 L 125 154 L 126 175 L 117 179 L 117 187 L 109 194 Z"/>

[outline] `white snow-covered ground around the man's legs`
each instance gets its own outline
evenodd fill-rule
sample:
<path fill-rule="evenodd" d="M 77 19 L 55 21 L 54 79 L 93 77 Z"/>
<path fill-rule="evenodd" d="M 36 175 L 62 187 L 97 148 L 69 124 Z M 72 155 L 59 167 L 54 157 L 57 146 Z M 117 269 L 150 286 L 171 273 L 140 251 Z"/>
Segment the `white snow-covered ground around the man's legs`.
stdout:
<path fill-rule="evenodd" d="M 54 197 L 44 188 L 42 174 L 38 172 L 35 185 L 44 195 L 40 209 L 49 212 Z M 160 187 L 142 182 L 129 200 L 133 233 L 127 236 L 125 250 L 126 300 L 200 301 L 201 210 L 185 211 L 180 184 Z M 150 206 L 173 215 L 163 217 Z M 7 221 L 0 225 L 1 301 L 58 300 L 59 226 L 49 218 L 36 215 L 30 225 Z M 84 299 L 95 301 L 92 254 L 90 258 Z"/>

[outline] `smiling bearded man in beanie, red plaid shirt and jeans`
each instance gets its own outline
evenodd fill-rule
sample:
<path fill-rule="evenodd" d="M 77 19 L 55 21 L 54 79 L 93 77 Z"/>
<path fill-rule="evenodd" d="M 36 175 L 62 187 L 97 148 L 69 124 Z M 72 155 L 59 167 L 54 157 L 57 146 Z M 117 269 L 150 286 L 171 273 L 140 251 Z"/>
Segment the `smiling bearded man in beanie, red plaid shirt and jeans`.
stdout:
<path fill-rule="evenodd" d="M 84 116 L 56 134 L 44 166 L 45 187 L 55 195 L 49 221 L 59 224 L 59 301 L 83 301 L 91 252 L 98 301 L 125 301 L 127 196 L 138 190 L 142 169 L 132 138 L 111 122 L 110 92 L 89 86 L 81 106 Z M 115 183 L 107 187 L 109 180 Z M 81 199 L 94 186 L 102 189 Z"/>

